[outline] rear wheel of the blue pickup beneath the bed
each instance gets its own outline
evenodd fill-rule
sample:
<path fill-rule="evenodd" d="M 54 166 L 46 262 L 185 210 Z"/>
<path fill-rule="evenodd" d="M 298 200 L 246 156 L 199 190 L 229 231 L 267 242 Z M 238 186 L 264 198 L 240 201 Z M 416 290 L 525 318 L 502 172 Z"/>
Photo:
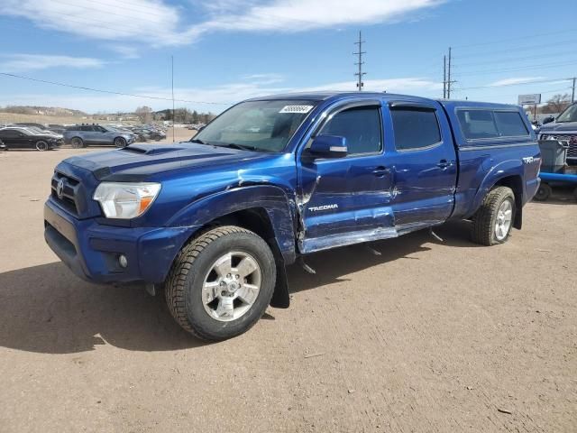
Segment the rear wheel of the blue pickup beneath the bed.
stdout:
<path fill-rule="evenodd" d="M 515 211 L 515 194 L 512 189 L 491 189 L 473 218 L 472 241 L 487 246 L 507 242 Z"/>

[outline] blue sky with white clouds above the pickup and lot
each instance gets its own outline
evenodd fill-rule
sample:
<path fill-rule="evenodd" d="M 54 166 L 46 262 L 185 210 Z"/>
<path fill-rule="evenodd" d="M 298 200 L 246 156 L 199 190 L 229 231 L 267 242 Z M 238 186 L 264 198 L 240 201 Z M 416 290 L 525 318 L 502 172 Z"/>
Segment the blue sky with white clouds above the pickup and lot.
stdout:
<path fill-rule="evenodd" d="M 170 97 L 222 111 L 247 97 L 353 90 L 362 30 L 367 90 L 441 97 L 453 46 L 453 97 L 515 103 L 571 91 L 577 3 L 557 0 L 0 0 L 0 72 Z M 517 85 L 536 81 L 534 84 Z M 169 101 L 0 76 L 0 106 L 89 113 Z"/>

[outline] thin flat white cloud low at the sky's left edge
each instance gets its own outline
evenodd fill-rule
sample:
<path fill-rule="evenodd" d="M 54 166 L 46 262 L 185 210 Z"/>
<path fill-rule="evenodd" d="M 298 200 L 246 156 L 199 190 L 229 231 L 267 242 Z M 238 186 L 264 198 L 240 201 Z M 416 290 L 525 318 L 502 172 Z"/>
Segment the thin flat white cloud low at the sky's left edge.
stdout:
<path fill-rule="evenodd" d="M 52 56 L 45 54 L 11 54 L 3 56 L 8 60 L 2 62 L 3 72 L 23 72 L 27 70 L 49 68 L 101 68 L 104 60 L 90 57 Z"/>

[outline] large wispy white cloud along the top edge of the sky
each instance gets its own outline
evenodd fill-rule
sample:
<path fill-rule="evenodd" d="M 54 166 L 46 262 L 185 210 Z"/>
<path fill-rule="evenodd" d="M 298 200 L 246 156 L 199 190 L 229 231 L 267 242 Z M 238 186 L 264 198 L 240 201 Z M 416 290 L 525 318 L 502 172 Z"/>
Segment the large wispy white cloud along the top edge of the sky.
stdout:
<path fill-rule="evenodd" d="M 193 10 L 162 0 L 0 0 L 0 14 L 24 17 L 42 28 L 91 39 L 158 47 L 190 43 L 206 32 L 303 32 L 390 23 L 444 1 L 215 0 Z"/>

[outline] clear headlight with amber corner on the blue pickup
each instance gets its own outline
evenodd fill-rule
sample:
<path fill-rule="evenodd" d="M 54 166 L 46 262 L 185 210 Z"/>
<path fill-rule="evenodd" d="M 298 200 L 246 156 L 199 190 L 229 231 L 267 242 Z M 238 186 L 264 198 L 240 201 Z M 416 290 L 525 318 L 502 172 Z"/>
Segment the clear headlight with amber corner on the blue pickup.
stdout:
<path fill-rule="evenodd" d="M 94 199 L 107 218 L 140 217 L 159 195 L 160 183 L 102 182 Z"/>

